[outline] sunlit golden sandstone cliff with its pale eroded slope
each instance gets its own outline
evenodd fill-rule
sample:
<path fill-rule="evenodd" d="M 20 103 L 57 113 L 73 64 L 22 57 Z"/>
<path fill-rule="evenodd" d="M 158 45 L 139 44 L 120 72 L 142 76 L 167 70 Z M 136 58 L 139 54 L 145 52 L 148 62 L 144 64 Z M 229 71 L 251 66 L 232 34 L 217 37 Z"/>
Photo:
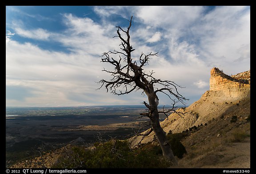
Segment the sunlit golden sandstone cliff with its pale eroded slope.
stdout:
<path fill-rule="evenodd" d="M 183 118 L 172 113 L 168 119 L 161 122 L 161 126 L 165 132 L 182 132 L 224 116 L 228 114 L 228 111 L 235 110 L 237 105 L 242 102 L 248 103 L 248 100 L 250 100 L 250 71 L 228 76 L 218 68 L 213 68 L 210 77 L 210 90 L 206 91 L 198 101 L 188 108 L 177 110 L 185 113 Z M 132 147 L 138 143 L 152 142 L 154 139 L 154 132 L 147 136 L 134 136 L 131 138 Z"/>

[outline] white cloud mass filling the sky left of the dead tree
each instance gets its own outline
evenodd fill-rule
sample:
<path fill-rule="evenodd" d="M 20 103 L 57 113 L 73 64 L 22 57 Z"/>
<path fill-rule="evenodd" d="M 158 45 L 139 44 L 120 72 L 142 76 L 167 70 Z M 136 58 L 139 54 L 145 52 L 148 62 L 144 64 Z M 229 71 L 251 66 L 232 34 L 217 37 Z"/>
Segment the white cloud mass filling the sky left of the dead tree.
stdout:
<path fill-rule="evenodd" d="M 68 106 L 117 101 L 109 93 L 106 94 L 104 89 L 96 91 L 100 87 L 96 81 L 110 78 L 109 74 L 101 71 L 104 67 L 111 69 L 110 65 L 100 63 L 100 55 L 113 50 L 112 46 L 118 45 L 118 39 L 108 37 L 106 33 L 109 33 L 109 27 L 102 27 L 92 19 L 78 18 L 71 14 L 63 16 L 68 29 L 60 34 L 52 33 L 51 39 L 68 46 L 72 50 L 69 54 L 43 50 L 32 43 L 18 43 L 14 40 L 6 43 L 6 84 L 19 85 L 21 89 L 36 89 L 34 97 L 24 96 L 26 102 L 7 100 L 7 105 Z M 23 37 L 37 37 L 37 40 L 50 37 L 46 30 L 26 31 L 17 25 L 15 28 L 16 34 Z M 75 100 L 77 96 L 80 98 Z"/>

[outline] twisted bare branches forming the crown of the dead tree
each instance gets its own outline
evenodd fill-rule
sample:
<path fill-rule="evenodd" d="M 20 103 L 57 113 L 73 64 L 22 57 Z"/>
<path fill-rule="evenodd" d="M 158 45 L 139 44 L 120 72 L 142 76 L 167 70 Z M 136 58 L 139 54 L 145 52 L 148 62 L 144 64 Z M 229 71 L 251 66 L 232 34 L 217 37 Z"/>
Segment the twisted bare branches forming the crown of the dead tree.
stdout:
<path fill-rule="evenodd" d="M 108 51 L 104 52 L 101 55 L 101 62 L 110 63 L 112 66 L 114 66 L 114 70 L 102 70 L 104 72 L 111 73 L 112 79 L 108 81 L 104 79 L 100 80 L 98 82 L 99 84 L 101 84 L 99 89 L 105 86 L 107 92 L 108 90 L 110 90 L 111 93 L 115 95 L 124 95 L 131 93 L 132 91 L 142 90 L 143 94 L 145 93 L 148 97 L 150 96 L 153 99 L 156 98 L 157 100 L 157 94 L 164 93 L 170 100 L 173 101 L 173 105 L 172 108 L 169 109 L 165 109 L 163 107 L 163 110 L 158 111 L 158 113 L 163 113 L 165 116 L 167 116 L 167 113 L 169 112 L 176 112 L 182 117 L 182 115 L 184 114 L 181 112 L 177 112 L 175 110 L 176 107 L 174 107 L 174 104 L 177 103 L 175 99 L 177 99 L 182 104 L 184 104 L 185 100 L 188 100 L 178 92 L 178 88 L 183 87 L 177 85 L 173 81 L 161 80 L 153 77 L 153 70 L 149 71 L 149 73 L 145 73 L 143 70 L 143 67 L 148 65 L 149 60 L 153 56 L 158 56 L 158 52 L 150 52 L 149 54 L 141 53 L 138 62 L 132 61 L 131 53 L 135 49 L 133 49 L 130 44 L 129 31 L 131 26 L 132 17 L 129 20 L 129 26 L 127 30 L 124 30 L 120 26 L 116 27 L 117 35 L 114 37 L 118 37 L 120 39 L 121 43 L 119 46 L 121 51 Z M 122 34 L 126 35 L 126 38 L 124 38 Z M 123 62 L 121 62 L 121 60 L 123 60 Z M 150 105 L 147 104 L 145 101 L 143 102 L 143 104 L 148 108 L 148 112 L 141 113 L 140 115 L 151 118 L 152 112 L 157 110 L 157 104 L 151 103 L 152 105 Z"/>

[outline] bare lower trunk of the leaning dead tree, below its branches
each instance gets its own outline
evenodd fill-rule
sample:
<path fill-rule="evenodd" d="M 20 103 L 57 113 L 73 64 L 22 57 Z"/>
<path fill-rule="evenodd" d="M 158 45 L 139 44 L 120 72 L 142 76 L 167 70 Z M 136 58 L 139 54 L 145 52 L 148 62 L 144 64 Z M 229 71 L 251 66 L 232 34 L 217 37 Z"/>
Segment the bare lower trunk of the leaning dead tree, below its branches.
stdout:
<path fill-rule="evenodd" d="M 155 98 L 148 98 L 148 101 L 151 106 L 154 106 L 152 109 L 152 115 L 150 116 L 150 120 L 152 121 L 152 128 L 162 149 L 164 159 L 165 161 L 170 162 L 172 166 L 178 166 L 178 162 L 173 155 L 171 145 L 168 143 L 168 140 L 166 138 L 166 133 L 161 128 Z"/>

